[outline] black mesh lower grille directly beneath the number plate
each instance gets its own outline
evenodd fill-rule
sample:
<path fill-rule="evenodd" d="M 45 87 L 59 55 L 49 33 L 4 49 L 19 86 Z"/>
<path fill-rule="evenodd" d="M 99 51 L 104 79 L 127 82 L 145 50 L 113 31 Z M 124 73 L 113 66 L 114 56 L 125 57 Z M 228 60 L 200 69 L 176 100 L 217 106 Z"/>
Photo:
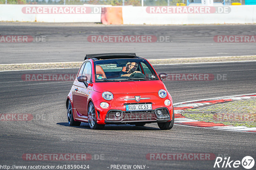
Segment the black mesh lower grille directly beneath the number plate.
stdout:
<path fill-rule="evenodd" d="M 155 111 L 132 111 L 132 112 L 124 112 L 122 119 L 136 119 L 136 118 L 155 118 Z"/>

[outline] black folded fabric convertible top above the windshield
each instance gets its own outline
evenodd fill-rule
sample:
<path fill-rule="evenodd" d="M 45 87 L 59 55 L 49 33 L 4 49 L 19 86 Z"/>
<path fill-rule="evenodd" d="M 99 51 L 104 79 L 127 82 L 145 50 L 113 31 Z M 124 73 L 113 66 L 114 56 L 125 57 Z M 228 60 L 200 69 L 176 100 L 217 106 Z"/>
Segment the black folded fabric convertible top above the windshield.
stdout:
<path fill-rule="evenodd" d="M 142 59 L 139 56 L 136 56 L 135 53 L 102 53 L 102 54 L 86 54 L 84 60 L 86 59 L 96 59 L 96 60 L 106 60 L 106 59 L 123 59 L 123 58 L 137 58 Z"/>

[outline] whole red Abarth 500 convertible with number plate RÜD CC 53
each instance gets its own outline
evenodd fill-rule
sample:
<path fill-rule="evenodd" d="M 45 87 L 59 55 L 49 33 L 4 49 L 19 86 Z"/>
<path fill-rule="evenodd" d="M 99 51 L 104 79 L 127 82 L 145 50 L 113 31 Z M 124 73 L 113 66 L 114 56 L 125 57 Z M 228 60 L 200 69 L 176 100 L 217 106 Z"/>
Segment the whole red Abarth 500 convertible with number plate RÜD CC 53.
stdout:
<path fill-rule="evenodd" d="M 68 124 L 103 129 L 105 124 L 157 123 L 162 130 L 172 129 L 166 78 L 135 53 L 86 55 L 67 97 Z"/>

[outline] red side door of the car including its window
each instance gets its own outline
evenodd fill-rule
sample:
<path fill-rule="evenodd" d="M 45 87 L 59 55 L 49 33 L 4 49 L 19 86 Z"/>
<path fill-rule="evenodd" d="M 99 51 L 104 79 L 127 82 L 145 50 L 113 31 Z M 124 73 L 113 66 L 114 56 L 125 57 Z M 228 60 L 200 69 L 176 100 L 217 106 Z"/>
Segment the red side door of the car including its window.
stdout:
<path fill-rule="evenodd" d="M 83 72 L 82 74 L 78 74 L 78 76 L 80 75 L 87 76 L 87 83 L 92 80 L 92 65 L 90 62 L 85 62 Z M 79 116 L 87 117 L 88 88 L 85 87 L 83 82 L 77 81 L 77 79 L 74 81 L 74 86 L 76 88 L 73 92 L 74 107 Z"/>

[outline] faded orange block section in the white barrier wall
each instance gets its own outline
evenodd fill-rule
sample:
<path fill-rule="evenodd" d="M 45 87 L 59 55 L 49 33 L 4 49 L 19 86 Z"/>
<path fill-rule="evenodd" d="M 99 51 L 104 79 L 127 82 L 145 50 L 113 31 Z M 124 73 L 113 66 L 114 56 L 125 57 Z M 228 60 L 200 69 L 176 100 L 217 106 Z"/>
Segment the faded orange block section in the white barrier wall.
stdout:
<path fill-rule="evenodd" d="M 124 24 L 122 7 L 105 7 L 101 12 L 102 24 Z"/>

